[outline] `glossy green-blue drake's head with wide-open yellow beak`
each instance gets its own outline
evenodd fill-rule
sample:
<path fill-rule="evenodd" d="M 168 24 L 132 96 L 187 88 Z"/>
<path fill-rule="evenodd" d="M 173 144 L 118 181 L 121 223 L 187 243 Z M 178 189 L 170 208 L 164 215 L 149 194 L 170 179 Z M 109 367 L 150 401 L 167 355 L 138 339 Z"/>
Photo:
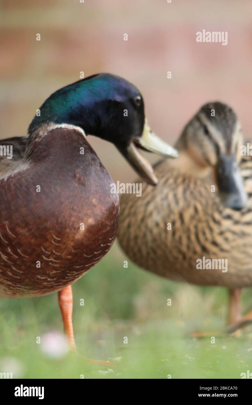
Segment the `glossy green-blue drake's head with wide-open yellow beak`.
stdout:
<path fill-rule="evenodd" d="M 40 108 L 29 133 L 44 122 L 71 124 L 86 135 L 112 142 L 131 166 L 148 183 L 157 178 L 138 148 L 165 157 L 177 157 L 177 151 L 159 139 L 148 127 L 144 100 L 139 90 L 125 79 L 101 73 L 77 81 L 53 93 Z"/>

